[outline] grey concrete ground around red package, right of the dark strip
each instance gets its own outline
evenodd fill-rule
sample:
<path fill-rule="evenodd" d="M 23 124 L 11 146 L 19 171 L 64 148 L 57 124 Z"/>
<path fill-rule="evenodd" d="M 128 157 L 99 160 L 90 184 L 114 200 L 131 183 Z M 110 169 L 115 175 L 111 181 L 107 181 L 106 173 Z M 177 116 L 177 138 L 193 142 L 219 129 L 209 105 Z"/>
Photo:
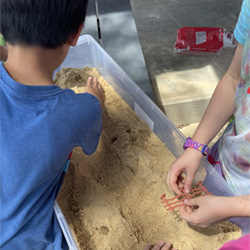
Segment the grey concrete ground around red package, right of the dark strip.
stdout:
<path fill-rule="evenodd" d="M 190 26 L 233 31 L 242 0 L 130 0 L 130 3 L 156 103 L 186 136 L 192 136 L 234 49 L 221 55 L 173 54 L 177 30 Z"/>

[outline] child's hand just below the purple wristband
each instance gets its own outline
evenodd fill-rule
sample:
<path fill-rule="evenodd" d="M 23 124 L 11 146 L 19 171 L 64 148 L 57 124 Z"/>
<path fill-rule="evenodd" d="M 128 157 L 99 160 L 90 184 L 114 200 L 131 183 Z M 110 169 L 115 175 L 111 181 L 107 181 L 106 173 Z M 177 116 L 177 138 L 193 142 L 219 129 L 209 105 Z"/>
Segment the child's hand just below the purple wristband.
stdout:
<path fill-rule="evenodd" d="M 187 193 L 191 191 L 192 182 L 201 159 L 201 152 L 192 148 L 187 148 L 183 154 L 172 163 L 167 175 L 167 184 L 176 194 L 182 193 L 180 187 L 183 186 L 183 172 L 187 175 L 185 178 L 184 190 Z"/>

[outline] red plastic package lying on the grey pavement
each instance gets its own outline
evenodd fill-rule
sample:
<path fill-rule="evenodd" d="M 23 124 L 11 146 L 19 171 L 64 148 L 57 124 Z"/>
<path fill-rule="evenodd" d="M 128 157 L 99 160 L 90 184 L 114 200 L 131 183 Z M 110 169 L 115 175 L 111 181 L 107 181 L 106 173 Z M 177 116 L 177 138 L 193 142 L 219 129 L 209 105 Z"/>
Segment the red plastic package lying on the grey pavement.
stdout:
<path fill-rule="evenodd" d="M 225 29 L 183 27 L 177 31 L 174 52 L 218 53 L 223 47 L 235 47 L 233 34 Z"/>

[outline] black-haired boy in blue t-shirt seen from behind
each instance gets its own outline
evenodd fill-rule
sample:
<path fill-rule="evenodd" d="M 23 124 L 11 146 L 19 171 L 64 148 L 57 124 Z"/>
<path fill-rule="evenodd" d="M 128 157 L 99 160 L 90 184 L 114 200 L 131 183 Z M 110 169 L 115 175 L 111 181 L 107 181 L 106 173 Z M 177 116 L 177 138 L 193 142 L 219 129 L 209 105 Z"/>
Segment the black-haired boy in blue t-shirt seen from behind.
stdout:
<path fill-rule="evenodd" d="M 103 90 L 89 78 L 87 93 L 76 95 L 52 76 L 76 45 L 86 9 L 87 0 L 1 0 L 2 250 L 68 249 L 54 200 L 72 149 L 96 150 Z"/>

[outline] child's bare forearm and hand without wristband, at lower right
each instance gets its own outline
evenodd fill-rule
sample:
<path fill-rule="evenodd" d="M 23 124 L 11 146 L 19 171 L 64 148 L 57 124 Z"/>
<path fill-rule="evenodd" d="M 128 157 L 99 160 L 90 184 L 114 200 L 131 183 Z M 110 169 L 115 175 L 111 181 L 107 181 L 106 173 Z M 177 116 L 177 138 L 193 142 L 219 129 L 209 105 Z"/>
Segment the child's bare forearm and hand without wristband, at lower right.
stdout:
<path fill-rule="evenodd" d="M 202 196 L 186 200 L 180 217 L 189 223 L 208 227 L 233 217 L 250 217 L 250 195 L 221 197 Z M 196 207 L 192 211 L 191 207 Z"/>

